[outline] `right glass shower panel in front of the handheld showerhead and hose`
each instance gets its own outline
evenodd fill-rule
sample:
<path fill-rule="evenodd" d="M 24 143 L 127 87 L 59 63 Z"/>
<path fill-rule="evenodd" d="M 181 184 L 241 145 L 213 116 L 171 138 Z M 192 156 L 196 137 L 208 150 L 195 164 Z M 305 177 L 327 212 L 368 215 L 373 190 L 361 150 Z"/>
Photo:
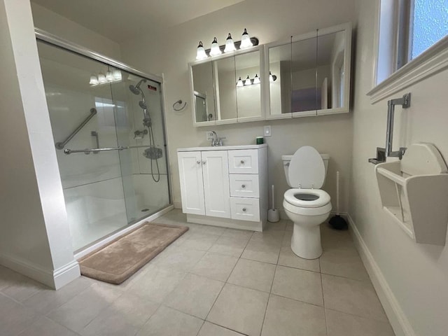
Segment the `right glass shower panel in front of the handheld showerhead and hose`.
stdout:
<path fill-rule="evenodd" d="M 154 214 L 169 204 L 167 153 L 162 118 L 161 85 L 124 73 L 126 82 L 112 84 L 116 120 L 127 116 L 128 127 L 117 127 L 127 221 Z"/>

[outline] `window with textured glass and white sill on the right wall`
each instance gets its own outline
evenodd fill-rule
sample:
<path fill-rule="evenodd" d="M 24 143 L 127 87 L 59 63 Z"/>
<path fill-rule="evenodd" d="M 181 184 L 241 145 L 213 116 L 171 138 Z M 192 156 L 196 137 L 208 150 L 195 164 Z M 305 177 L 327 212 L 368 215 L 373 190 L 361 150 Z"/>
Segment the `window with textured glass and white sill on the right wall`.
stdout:
<path fill-rule="evenodd" d="M 377 0 L 377 102 L 448 67 L 448 0 Z"/>

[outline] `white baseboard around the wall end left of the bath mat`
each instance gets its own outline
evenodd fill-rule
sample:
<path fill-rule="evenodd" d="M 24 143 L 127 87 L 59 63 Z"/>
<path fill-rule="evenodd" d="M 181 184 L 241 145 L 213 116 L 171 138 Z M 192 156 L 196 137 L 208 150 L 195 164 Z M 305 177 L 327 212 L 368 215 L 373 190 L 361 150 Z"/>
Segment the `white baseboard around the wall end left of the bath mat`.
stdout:
<path fill-rule="evenodd" d="M 76 260 L 53 271 L 34 265 L 29 260 L 2 254 L 0 255 L 0 264 L 53 289 L 59 289 L 80 276 L 79 265 Z"/>

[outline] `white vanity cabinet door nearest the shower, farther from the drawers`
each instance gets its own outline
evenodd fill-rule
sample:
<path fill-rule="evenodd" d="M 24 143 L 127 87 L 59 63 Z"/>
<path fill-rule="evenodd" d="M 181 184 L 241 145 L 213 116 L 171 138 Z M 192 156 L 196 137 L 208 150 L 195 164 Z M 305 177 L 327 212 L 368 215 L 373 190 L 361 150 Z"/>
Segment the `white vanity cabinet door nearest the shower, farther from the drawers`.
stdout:
<path fill-rule="evenodd" d="M 201 152 L 177 153 L 184 214 L 205 215 Z"/>

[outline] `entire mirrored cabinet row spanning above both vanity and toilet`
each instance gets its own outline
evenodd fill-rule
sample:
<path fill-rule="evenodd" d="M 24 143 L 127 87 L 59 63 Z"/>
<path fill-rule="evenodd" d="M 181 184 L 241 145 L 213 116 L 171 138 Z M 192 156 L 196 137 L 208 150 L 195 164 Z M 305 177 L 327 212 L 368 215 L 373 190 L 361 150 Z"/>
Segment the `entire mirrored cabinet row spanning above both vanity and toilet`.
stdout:
<path fill-rule="evenodd" d="M 351 23 L 191 62 L 193 125 L 348 113 L 350 67 Z"/>

